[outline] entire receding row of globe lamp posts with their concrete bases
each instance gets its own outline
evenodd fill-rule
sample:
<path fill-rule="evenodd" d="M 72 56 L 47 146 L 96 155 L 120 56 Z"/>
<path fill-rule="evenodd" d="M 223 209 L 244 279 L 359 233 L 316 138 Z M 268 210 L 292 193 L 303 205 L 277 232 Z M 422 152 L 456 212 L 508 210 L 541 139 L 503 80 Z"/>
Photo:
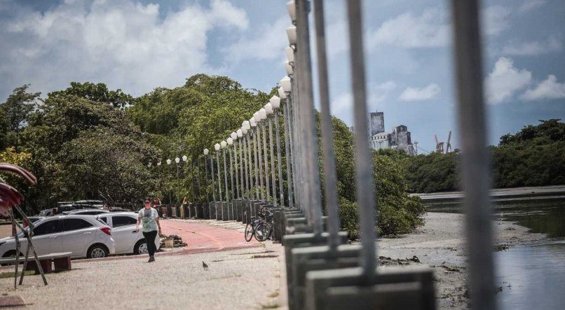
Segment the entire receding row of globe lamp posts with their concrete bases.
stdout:
<path fill-rule="evenodd" d="M 348 14 L 360 246 L 346 245 L 346 234 L 339 231 L 322 0 L 287 3 L 292 24 L 287 29 L 289 46 L 285 49 L 287 76 L 280 80 L 279 96 L 271 98 L 229 138 L 216 143 L 213 154 L 204 150 L 206 174 L 210 174 L 212 181 L 213 202 L 203 205 L 201 213 L 203 218 L 235 219 L 246 223 L 249 216 L 258 210 L 268 208 L 275 212 L 274 239 L 285 245 L 290 309 L 435 309 L 432 270 L 381 270 L 377 267 L 375 226 L 378 219 L 375 210 L 379 193 L 367 195 L 374 192 L 374 180 L 372 153 L 366 139 L 362 3 L 360 0 L 344 3 Z M 450 3 L 454 24 L 454 76 L 462 143 L 461 175 L 465 191 L 471 306 L 473 309 L 494 309 L 489 154 L 482 90 L 479 1 L 451 0 Z M 318 172 L 313 57 L 311 31 L 308 29 L 311 5 L 315 24 L 315 59 L 318 62 L 325 178 L 323 197 L 327 218 L 322 217 Z M 280 115 L 284 120 L 282 139 Z M 247 116 L 242 115 L 243 118 Z M 281 140 L 285 143 L 285 150 L 281 150 Z M 285 154 L 285 162 L 281 153 Z M 206 183 L 209 181 L 210 178 L 206 177 Z"/>

